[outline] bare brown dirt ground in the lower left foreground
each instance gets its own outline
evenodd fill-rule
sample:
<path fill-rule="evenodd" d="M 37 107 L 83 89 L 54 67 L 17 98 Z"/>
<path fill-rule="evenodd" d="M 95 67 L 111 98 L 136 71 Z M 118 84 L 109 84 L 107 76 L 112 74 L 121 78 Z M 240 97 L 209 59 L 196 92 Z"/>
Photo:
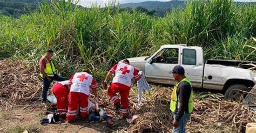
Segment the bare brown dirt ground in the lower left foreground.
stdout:
<path fill-rule="evenodd" d="M 17 105 L 9 111 L 0 112 L 0 132 L 113 132 L 121 128 L 118 124 L 129 124 L 125 120 L 115 121 L 113 128 L 106 127 L 105 122 L 90 123 L 86 120 L 68 123 L 62 120 L 58 124 L 41 125 L 40 120 L 47 117 L 45 105 L 41 102 L 33 102 L 30 105 Z"/>

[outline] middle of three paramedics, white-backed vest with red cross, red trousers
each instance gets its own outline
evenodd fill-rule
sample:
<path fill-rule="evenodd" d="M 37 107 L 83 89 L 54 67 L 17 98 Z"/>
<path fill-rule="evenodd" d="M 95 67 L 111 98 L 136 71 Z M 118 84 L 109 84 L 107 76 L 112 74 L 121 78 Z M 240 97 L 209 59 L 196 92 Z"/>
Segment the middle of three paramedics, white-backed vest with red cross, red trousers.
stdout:
<path fill-rule="evenodd" d="M 87 72 L 76 72 L 70 79 L 70 93 L 69 93 L 69 108 L 66 120 L 72 122 L 75 120 L 77 114 L 77 107 L 80 106 L 80 116 L 82 119 L 87 117 L 88 98 L 90 94 L 90 88 L 97 97 L 97 84 L 95 78 L 93 78 Z"/>

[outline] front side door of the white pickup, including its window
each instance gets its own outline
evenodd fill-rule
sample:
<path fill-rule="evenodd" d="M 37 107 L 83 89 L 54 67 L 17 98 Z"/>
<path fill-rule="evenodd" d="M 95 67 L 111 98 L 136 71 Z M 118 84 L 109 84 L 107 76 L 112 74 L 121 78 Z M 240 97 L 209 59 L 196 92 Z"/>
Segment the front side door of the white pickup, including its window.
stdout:
<path fill-rule="evenodd" d="M 179 48 L 163 48 L 149 58 L 145 64 L 146 79 L 149 82 L 161 84 L 175 84 L 172 77 L 173 67 L 180 63 Z"/>

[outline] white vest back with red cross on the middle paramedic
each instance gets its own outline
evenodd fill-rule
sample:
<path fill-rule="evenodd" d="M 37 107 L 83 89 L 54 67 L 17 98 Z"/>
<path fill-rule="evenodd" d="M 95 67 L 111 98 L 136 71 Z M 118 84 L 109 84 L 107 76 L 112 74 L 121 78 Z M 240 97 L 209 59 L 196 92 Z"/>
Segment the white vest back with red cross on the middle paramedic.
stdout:
<path fill-rule="evenodd" d="M 92 79 L 93 77 L 87 72 L 75 73 L 71 80 L 70 92 L 80 92 L 89 95 Z"/>

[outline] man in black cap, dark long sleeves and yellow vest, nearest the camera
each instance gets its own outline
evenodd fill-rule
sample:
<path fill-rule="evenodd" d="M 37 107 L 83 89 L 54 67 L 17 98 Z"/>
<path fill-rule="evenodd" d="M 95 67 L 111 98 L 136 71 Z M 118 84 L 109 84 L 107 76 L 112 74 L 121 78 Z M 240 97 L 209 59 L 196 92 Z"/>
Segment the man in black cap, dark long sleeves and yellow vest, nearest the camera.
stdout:
<path fill-rule="evenodd" d="M 176 65 L 170 73 L 178 81 L 173 87 L 170 104 L 173 112 L 173 132 L 186 132 L 186 123 L 193 111 L 192 84 L 185 77 L 185 70 L 180 65 Z"/>

